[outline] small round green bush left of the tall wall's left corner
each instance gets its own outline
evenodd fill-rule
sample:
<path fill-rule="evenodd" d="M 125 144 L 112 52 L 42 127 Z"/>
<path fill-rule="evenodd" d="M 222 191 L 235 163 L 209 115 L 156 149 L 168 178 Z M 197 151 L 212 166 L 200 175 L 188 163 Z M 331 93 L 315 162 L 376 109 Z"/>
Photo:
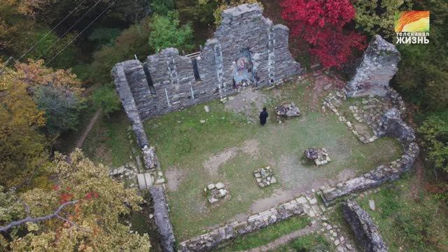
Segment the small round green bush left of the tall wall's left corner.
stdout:
<path fill-rule="evenodd" d="M 102 113 L 109 118 L 109 114 L 121 109 L 120 99 L 113 87 L 99 87 L 92 94 L 92 102 L 95 109 L 101 109 Z"/>

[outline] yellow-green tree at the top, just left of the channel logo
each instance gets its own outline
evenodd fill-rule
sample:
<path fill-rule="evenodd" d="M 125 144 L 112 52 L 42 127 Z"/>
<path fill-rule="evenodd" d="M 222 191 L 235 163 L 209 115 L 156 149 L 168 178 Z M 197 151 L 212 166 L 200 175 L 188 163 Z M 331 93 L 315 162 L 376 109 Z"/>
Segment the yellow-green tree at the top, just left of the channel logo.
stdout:
<path fill-rule="evenodd" d="M 393 17 L 398 10 L 410 10 L 412 0 L 356 0 L 353 6 L 356 8 L 356 28 L 361 28 L 370 35 L 380 34 L 391 40 L 395 31 L 393 29 Z"/>

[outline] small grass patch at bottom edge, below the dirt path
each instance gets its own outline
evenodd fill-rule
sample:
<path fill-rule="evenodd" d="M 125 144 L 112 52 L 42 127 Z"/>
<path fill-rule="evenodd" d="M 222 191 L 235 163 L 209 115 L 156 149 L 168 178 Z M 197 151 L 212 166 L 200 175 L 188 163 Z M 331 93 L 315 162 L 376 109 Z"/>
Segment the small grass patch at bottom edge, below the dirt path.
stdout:
<path fill-rule="evenodd" d="M 309 234 L 290 241 L 284 246 L 274 249 L 272 252 L 284 251 L 332 251 L 332 245 L 323 235 Z"/>

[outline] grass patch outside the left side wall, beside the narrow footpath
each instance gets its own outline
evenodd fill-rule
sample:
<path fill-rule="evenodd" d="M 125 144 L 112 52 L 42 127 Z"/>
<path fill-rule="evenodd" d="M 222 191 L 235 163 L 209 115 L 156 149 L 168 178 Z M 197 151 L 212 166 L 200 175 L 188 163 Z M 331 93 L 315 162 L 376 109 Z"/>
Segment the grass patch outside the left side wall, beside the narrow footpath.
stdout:
<path fill-rule="evenodd" d="M 122 111 L 114 113 L 110 119 L 100 118 L 85 139 L 84 153 L 90 160 L 109 167 L 125 165 L 132 160 L 132 148 L 138 150 L 137 144 L 130 144 L 129 127 L 130 122 Z M 134 139 L 132 132 L 130 135 Z"/>

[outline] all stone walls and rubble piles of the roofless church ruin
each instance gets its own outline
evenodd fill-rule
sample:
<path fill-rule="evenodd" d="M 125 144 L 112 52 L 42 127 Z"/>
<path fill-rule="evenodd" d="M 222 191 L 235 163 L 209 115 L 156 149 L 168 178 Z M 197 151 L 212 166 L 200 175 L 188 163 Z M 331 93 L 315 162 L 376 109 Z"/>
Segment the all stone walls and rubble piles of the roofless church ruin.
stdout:
<path fill-rule="evenodd" d="M 162 176 L 155 148 L 150 146 L 144 131 L 145 120 L 202 102 L 223 99 L 244 88 L 279 85 L 300 75 L 302 68 L 288 50 L 288 33 L 286 26 L 274 25 L 271 20 L 263 17 L 257 4 L 244 4 L 223 11 L 221 26 L 200 52 L 179 55 L 176 48 L 167 48 L 148 56 L 145 62 L 133 59 L 116 64 L 112 75 L 125 112 L 132 123 L 137 143 L 142 149 L 146 172 L 153 171 Z M 343 89 L 330 92 L 324 99 L 323 111 L 329 109 L 335 113 L 339 121 L 345 123 L 348 130 L 363 144 L 369 144 L 383 136 L 398 139 L 404 148 L 401 158 L 379 165 L 365 174 L 346 179 L 343 183 L 321 186 L 310 195 L 301 195 L 267 211 L 252 214 L 245 221 L 227 223 L 209 230 L 206 234 L 181 241 L 177 243 L 177 248 L 165 200 L 165 180 L 162 179 L 161 183 L 146 183 L 141 188 L 148 188 L 153 198 L 154 218 L 162 241 L 162 250 L 209 251 L 223 241 L 230 241 L 239 235 L 259 230 L 291 216 L 307 214 L 314 218 L 323 214 L 321 209 L 330 207 L 343 197 L 351 197 L 398 179 L 412 167 L 419 154 L 414 130 L 401 118 L 405 111 L 402 99 L 388 87 L 389 80 L 398 70 L 399 61 L 400 53 L 395 46 L 384 41 L 381 36 L 375 36 L 353 78 Z M 356 116 L 353 115 L 356 120 L 365 120 L 367 125 L 372 127 L 373 136 L 361 136 L 345 118 L 344 113 L 339 113 L 337 104 L 342 104 L 347 97 L 365 97 L 359 107 L 350 106 L 350 109 L 356 113 Z M 381 101 L 377 100 L 377 97 L 381 97 Z M 374 100 L 381 103 L 381 108 L 387 111 L 377 108 Z M 387 104 L 384 101 L 387 101 Z M 208 106 L 206 111 L 208 112 Z M 280 118 L 301 116 L 300 110 L 293 103 L 281 104 L 275 111 Z M 330 162 L 325 148 L 307 151 L 309 155 L 305 156 L 309 156 L 316 165 Z M 281 183 L 273 175 L 270 168 L 253 171 L 254 179 L 260 188 L 272 183 Z M 201 189 L 204 189 L 204 195 L 208 197 L 210 204 L 225 200 L 229 196 L 228 193 L 232 193 L 232 188 L 226 188 L 221 182 Z M 321 197 L 323 204 L 318 204 L 314 192 Z M 368 218 L 351 205 L 344 214 L 349 223 L 354 225 Z M 367 228 L 370 229 L 363 231 L 376 230 L 373 225 Z M 370 239 L 372 237 L 367 234 L 365 242 L 370 242 Z M 335 246 L 338 245 L 339 241 L 335 243 Z"/>

